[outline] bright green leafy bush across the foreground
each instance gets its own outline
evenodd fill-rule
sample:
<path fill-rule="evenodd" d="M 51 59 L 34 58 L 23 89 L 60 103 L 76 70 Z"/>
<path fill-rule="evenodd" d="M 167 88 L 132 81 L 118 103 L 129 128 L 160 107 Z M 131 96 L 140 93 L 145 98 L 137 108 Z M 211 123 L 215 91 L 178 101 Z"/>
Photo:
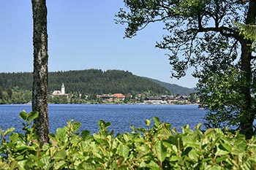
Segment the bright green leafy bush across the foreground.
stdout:
<path fill-rule="evenodd" d="M 32 124 L 37 115 L 20 112 L 24 134 L 0 131 L 0 169 L 256 169 L 256 139 L 238 132 L 186 125 L 179 134 L 154 117 L 154 125 L 146 120 L 147 128 L 131 125 L 132 133 L 116 136 L 109 122 L 99 120 L 91 135 L 78 133 L 80 123 L 70 120 L 42 145 Z"/>

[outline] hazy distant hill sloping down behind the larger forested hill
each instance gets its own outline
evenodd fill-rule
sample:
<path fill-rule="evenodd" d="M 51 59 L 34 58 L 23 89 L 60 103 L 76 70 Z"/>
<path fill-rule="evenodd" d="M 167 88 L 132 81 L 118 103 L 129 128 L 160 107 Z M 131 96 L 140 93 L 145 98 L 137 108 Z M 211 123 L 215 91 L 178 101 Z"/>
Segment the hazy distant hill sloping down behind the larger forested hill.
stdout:
<path fill-rule="evenodd" d="M 154 80 L 154 79 L 151 79 L 151 78 L 148 78 L 148 77 L 142 77 L 146 80 L 151 80 L 152 82 L 156 82 L 157 84 L 161 85 L 162 87 L 164 88 L 167 88 L 168 90 L 170 90 L 170 93 L 172 94 L 180 94 L 180 95 L 189 95 L 190 93 L 193 93 L 195 92 L 194 89 L 192 88 L 184 88 L 184 87 L 181 87 L 179 85 L 175 85 L 175 84 L 170 84 L 170 83 L 167 83 L 167 82 L 161 82 L 159 80 Z"/>

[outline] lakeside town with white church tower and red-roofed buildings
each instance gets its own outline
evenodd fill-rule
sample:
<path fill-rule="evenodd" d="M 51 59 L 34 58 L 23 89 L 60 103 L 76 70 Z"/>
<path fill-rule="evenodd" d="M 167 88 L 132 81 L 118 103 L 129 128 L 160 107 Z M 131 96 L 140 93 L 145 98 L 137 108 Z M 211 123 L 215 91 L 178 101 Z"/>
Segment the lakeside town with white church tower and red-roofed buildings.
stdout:
<path fill-rule="evenodd" d="M 200 104 L 200 99 L 195 93 L 189 96 L 162 95 L 146 96 L 145 94 L 124 95 L 122 93 L 83 95 L 81 93 L 65 93 L 64 83 L 61 90 L 54 90 L 50 94 L 49 102 L 53 104 Z"/>

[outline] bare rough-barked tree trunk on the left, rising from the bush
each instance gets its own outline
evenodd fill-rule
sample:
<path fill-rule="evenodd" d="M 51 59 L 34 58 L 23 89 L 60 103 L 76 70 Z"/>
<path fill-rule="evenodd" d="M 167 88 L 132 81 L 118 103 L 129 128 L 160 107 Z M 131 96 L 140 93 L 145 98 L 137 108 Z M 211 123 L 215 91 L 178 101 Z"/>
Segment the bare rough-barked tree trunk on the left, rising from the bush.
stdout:
<path fill-rule="evenodd" d="M 37 135 L 43 144 L 48 142 L 48 34 L 45 0 L 31 0 L 34 21 L 34 81 L 32 109 L 39 112 L 34 120 Z"/>

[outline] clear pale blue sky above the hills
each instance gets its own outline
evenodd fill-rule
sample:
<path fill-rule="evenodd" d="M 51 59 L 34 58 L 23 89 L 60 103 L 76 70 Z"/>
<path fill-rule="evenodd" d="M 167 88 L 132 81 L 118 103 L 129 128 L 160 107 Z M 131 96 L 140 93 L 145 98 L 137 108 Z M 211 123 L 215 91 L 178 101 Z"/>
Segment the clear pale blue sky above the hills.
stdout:
<path fill-rule="evenodd" d="M 49 72 L 81 69 L 118 69 L 194 88 L 197 80 L 170 78 L 166 53 L 155 47 L 167 34 L 160 23 L 124 39 L 125 26 L 116 24 L 121 0 L 48 0 Z M 31 1 L 0 2 L 0 72 L 33 72 Z"/>

